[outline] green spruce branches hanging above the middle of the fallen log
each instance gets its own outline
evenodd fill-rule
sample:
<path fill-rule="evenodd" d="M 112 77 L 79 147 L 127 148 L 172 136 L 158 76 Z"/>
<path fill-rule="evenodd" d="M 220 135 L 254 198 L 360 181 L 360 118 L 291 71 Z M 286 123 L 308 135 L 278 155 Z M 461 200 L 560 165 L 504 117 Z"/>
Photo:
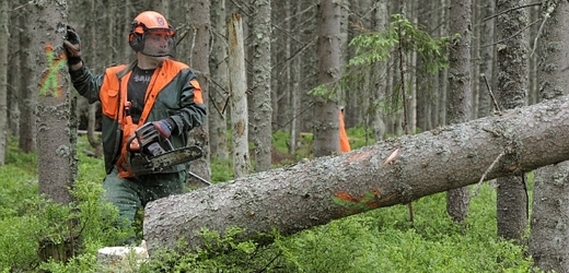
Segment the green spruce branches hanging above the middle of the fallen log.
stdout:
<path fill-rule="evenodd" d="M 350 40 L 349 45 L 356 49 L 356 54 L 348 61 L 345 73 L 337 85 L 347 91 L 370 88 L 370 82 L 381 82 L 381 78 L 387 76 L 381 73 L 382 70 L 394 63 L 405 62 L 411 55 L 418 55 L 422 66 L 399 63 L 400 67 L 405 67 L 400 71 L 404 74 L 400 81 L 393 83 L 391 91 L 385 92 L 385 97 L 380 99 L 362 96 L 352 98 L 349 97 L 351 93 L 346 92 L 347 99 L 361 100 L 361 104 L 369 105 L 364 109 L 365 115 L 373 115 L 379 110 L 383 114 L 399 111 L 405 103 L 403 99 L 404 87 L 415 82 L 416 74 L 434 74 L 448 68 L 449 43 L 449 37 L 431 37 L 420 26 L 415 25 L 403 15 L 394 14 L 390 26 L 385 29 L 381 32 L 363 31 Z M 407 76 L 407 74 L 413 75 Z M 427 92 L 429 91 L 427 90 Z"/>

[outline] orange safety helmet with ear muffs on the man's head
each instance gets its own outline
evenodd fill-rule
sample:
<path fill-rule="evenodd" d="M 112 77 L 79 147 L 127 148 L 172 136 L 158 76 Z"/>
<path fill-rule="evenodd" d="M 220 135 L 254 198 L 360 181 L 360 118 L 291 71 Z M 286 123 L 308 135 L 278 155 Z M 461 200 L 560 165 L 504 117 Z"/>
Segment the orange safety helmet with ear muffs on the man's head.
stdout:
<path fill-rule="evenodd" d="M 144 35 L 152 31 L 166 32 L 167 36 L 173 39 L 173 46 L 170 46 L 170 51 L 175 51 L 175 35 L 176 31 L 172 27 L 166 19 L 155 11 L 144 11 L 138 14 L 131 23 L 130 33 L 128 35 L 128 44 L 135 51 L 142 51 L 144 49 Z M 171 54 L 169 54 L 171 55 Z"/>

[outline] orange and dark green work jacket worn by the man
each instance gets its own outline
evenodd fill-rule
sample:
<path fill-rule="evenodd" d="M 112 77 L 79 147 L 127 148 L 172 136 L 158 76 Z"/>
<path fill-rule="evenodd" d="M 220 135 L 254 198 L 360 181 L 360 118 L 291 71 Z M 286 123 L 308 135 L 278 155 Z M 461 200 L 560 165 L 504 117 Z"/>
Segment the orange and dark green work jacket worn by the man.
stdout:
<path fill-rule="evenodd" d="M 121 88 L 126 88 L 130 71 L 136 66 L 117 66 L 105 70 L 104 74 L 93 75 L 83 66 L 80 70 L 70 71 L 73 86 L 89 103 L 101 102 L 102 107 L 102 141 L 105 157 L 105 169 L 108 174 L 116 164 L 121 149 Z M 120 76 L 124 75 L 124 76 Z M 156 90 L 158 92 L 152 92 Z M 162 67 L 156 68 L 147 90 L 147 95 L 158 93 L 154 103 L 148 110 L 146 119 L 141 117 L 139 126 L 165 118 L 172 118 L 177 130 L 171 135 L 173 146 L 187 144 L 188 131 L 204 122 L 206 106 L 201 88 L 196 75 L 188 66 L 166 59 Z M 147 97 L 147 99 L 149 99 Z M 177 166 L 182 170 L 184 166 Z"/>

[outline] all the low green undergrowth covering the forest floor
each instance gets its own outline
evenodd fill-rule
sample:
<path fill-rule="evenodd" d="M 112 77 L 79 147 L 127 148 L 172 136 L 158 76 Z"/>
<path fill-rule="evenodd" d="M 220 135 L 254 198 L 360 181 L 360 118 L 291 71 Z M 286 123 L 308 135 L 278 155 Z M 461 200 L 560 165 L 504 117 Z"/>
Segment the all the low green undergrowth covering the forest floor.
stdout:
<path fill-rule="evenodd" d="M 361 141 L 353 149 L 365 139 L 358 131 L 348 133 Z M 80 138 L 77 202 L 69 206 L 43 200 L 31 167 L 35 156 L 10 149 L 0 167 L 0 272 L 113 272 L 97 263 L 96 250 L 128 230 L 113 228 L 116 210 L 98 198 L 103 162 L 81 152 L 89 150 L 85 143 Z M 283 149 L 286 141 L 278 143 Z M 227 162 L 213 161 L 212 173 L 223 173 L 212 177 L 214 182 L 232 176 Z M 413 223 L 407 205 L 394 205 L 291 236 L 266 235 L 266 244 L 239 239 L 240 227 L 224 237 L 204 229 L 207 244 L 197 251 L 160 249 L 138 270 L 124 272 L 538 272 L 524 258 L 526 249 L 496 236 L 496 189 L 485 182 L 479 189 L 472 186 L 472 192 L 464 224 L 450 219 L 445 193 L 438 193 L 413 202 Z M 70 221 L 78 226 L 70 229 Z M 66 244 L 70 235 L 81 238 L 73 241 L 73 258 L 39 258 L 40 242 Z"/>

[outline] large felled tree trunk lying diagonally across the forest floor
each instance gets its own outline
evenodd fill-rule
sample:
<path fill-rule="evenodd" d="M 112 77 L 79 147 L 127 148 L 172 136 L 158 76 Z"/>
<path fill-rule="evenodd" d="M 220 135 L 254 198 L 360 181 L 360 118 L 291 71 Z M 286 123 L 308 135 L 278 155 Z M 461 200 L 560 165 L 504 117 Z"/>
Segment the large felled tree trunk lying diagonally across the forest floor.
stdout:
<path fill-rule="evenodd" d="M 146 207 L 143 233 L 150 251 L 181 238 L 195 249 L 201 228 L 290 235 L 566 159 L 569 97 L 161 199 Z"/>

